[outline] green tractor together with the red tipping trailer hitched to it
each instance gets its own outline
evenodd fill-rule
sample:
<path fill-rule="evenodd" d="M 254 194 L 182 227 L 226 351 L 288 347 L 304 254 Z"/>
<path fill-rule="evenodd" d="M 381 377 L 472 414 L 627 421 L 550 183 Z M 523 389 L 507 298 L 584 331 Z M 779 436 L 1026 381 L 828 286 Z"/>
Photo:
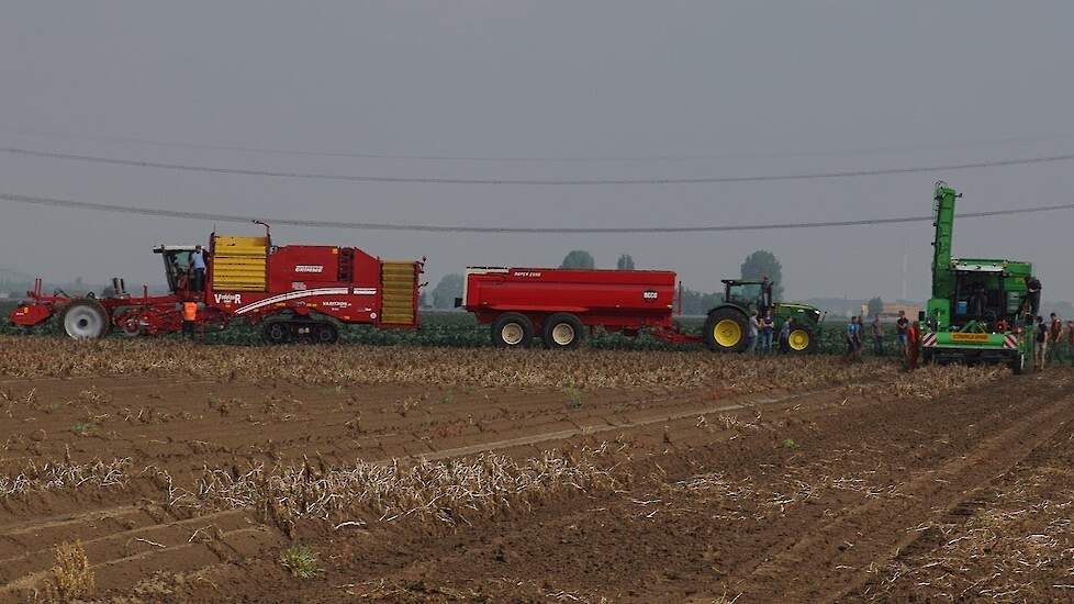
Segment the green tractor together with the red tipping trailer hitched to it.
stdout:
<path fill-rule="evenodd" d="M 456 305 L 490 325 L 492 342 L 504 347 L 529 346 L 539 337 L 546 348 L 575 348 L 586 332 L 602 327 L 627 336 L 645 328 L 665 342 L 741 353 L 748 313 L 757 302 L 751 295 L 759 294 L 761 282 L 724 283 L 725 302 L 709 311 L 701 336 L 676 329 L 675 273 L 668 270 L 470 267 Z M 781 322 L 794 318 L 788 353 L 816 351 L 820 311 L 771 300 L 767 306 Z"/>

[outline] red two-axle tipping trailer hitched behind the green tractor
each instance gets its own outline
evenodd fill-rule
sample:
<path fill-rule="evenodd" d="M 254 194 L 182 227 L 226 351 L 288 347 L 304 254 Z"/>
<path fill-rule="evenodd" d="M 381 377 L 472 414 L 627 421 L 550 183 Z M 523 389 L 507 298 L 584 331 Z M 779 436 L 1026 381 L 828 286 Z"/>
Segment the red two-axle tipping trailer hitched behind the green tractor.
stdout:
<path fill-rule="evenodd" d="M 674 331 L 675 273 L 668 270 L 579 270 L 471 267 L 457 305 L 492 325 L 499 346 L 574 348 L 585 331 L 637 335 L 646 327 L 661 339 L 700 342 Z"/>

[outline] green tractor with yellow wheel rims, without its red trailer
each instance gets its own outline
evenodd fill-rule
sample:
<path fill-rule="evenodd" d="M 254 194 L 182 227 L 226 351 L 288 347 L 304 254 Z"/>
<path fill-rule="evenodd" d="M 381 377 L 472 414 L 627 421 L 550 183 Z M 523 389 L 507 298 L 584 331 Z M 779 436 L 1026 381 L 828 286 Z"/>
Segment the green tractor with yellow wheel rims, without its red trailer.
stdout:
<path fill-rule="evenodd" d="M 816 353 L 820 344 L 820 311 L 808 304 L 775 302 L 772 300 L 771 281 L 724 279 L 724 303 L 708 311 L 702 337 L 709 350 L 745 353 L 748 345 L 749 321 L 754 312 L 768 309 L 779 331 L 792 320 L 791 335 L 786 342 L 775 342 L 787 353 L 804 355 Z"/>

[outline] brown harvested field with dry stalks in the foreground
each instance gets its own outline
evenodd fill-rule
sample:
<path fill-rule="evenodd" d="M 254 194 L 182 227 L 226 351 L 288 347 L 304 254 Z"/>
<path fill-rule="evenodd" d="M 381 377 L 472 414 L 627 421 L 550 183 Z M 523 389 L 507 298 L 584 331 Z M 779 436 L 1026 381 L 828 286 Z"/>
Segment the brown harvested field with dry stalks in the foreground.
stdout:
<path fill-rule="evenodd" d="M 0 337 L 0 601 L 64 544 L 105 602 L 1069 601 L 1072 420 L 1067 369 Z"/>

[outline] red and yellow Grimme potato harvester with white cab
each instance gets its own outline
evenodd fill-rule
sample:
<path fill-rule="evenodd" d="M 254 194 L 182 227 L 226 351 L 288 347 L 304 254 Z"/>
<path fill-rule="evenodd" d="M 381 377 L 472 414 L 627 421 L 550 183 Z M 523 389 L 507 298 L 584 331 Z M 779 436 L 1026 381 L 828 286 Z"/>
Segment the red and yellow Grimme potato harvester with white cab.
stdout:
<path fill-rule="evenodd" d="M 259 223 L 262 224 L 264 223 Z M 194 291 L 190 254 L 193 245 L 154 248 L 164 259 L 168 292 L 141 295 L 113 279 L 112 292 L 70 297 L 42 292 L 38 279 L 29 301 L 12 313 L 16 325 L 32 327 L 58 316 L 68 336 L 103 337 L 113 327 L 128 336 L 175 333 L 182 327 L 181 305 L 197 302 L 195 324 L 226 328 L 235 320 L 261 325 L 265 339 L 334 343 L 336 322 L 382 328 L 421 325 L 418 297 L 422 261 L 388 261 L 357 247 L 272 245 L 265 236 L 210 236 L 205 283 Z"/>

